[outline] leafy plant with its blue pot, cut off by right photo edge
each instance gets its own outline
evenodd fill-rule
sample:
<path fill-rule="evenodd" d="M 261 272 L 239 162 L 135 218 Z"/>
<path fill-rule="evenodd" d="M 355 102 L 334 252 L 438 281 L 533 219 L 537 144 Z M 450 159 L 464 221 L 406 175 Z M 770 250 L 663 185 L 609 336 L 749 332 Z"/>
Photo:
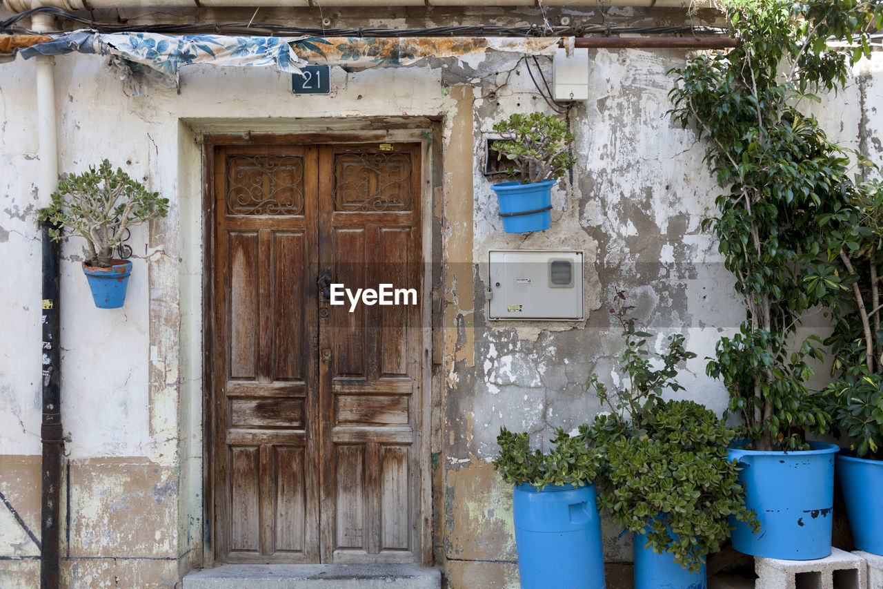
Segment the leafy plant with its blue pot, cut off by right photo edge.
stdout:
<path fill-rule="evenodd" d="M 883 184 L 851 187 L 823 218 L 831 245 L 811 265 L 808 287 L 826 302 L 834 333 L 834 382 L 824 391 L 834 425 L 849 436 L 836 457 L 856 547 L 883 555 Z"/>

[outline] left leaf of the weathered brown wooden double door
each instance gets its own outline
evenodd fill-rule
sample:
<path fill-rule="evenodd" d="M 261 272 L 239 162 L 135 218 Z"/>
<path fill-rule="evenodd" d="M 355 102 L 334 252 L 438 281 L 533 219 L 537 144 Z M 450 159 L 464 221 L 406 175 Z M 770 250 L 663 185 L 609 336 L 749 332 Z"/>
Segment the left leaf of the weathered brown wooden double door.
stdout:
<path fill-rule="evenodd" d="M 314 148 L 215 149 L 215 553 L 319 558 Z"/>

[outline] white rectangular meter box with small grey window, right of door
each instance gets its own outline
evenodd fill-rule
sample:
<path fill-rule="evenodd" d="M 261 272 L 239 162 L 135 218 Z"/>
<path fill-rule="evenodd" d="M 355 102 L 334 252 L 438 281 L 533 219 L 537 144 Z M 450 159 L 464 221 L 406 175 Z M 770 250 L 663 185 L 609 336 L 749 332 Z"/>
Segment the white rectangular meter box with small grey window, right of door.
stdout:
<path fill-rule="evenodd" d="M 488 267 L 488 318 L 583 318 L 583 252 L 491 250 Z"/>

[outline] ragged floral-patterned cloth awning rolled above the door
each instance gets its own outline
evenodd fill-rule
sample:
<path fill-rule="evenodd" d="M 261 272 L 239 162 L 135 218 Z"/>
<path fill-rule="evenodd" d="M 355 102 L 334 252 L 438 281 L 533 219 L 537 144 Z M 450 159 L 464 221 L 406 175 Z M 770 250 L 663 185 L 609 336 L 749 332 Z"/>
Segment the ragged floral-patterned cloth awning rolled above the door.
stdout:
<path fill-rule="evenodd" d="M 34 35 L 36 36 L 36 35 Z M 24 58 L 64 53 L 110 56 L 133 95 L 143 81 L 156 80 L 177 88 L 182 65 L 263 65 L 300 73 L 306 64 L 355 68 L 411 65 L 424 57 L 461 57 L 487 50 L 553 55 L 558 39 L 551 37 L 237 37 L 222 34 L 165 35 L 100 34 L 75 31 L 40 39 L 7 43 L 6 56 L 18 50 Z M 4 47 L 0 46 L 0 61 Z"/>

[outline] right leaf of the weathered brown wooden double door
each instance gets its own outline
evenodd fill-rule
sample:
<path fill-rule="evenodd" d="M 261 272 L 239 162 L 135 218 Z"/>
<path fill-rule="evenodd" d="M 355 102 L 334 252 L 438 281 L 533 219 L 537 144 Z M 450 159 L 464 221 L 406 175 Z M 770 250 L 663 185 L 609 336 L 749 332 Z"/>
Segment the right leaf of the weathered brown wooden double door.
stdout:
<path fill-rule="evenodd" d="M 419 146 L 320 151 L 320 267 L 347 288 L 412 288 L 415 304 L 330 307 L 320 348 L 322 558 L 414 562 L 418 517 Z M 326 197 L 330 195 L 331 198 Z M 395 301 L 393 301 L 395 302 Z M 400 303 L 404 300 L 400 300 Z M 325 321 L 324 319 L 322 321 Z M 408 498 L 403 500 L 403 497 Z M 327 509 L 333 505 L 334 510 Z"/>

